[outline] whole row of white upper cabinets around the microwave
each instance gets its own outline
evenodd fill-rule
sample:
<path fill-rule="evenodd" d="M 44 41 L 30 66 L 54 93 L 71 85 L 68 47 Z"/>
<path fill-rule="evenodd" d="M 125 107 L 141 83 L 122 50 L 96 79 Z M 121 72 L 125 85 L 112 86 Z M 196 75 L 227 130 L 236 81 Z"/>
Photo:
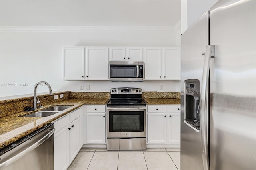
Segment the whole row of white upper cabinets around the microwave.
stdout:
<path fill-rule="evenodd" d="M 64 80 L 108 80 L 108 60 L 144 61 L 145 81 L 180 80 L 180 47 L 64 47 L 63 56 Z"/>

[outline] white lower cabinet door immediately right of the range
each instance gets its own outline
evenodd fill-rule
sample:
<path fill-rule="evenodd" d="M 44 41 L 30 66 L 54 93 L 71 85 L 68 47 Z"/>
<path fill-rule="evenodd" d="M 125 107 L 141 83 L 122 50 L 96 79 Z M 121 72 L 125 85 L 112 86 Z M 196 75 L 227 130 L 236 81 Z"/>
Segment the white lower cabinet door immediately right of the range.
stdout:
<path fill-rule="evenodd" d="M 148 113 L 148 144 L 166 143 L 166 113 Z"/>

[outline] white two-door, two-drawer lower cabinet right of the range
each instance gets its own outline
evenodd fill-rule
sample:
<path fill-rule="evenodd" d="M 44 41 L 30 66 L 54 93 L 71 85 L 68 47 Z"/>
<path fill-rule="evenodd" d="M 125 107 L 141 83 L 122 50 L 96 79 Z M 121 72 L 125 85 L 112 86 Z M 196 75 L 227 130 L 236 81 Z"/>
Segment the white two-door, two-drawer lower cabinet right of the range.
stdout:
<path fill-rule="evenodd" d="M 147 144 L 180 147 L 180 105 L 147 106 Z"/>

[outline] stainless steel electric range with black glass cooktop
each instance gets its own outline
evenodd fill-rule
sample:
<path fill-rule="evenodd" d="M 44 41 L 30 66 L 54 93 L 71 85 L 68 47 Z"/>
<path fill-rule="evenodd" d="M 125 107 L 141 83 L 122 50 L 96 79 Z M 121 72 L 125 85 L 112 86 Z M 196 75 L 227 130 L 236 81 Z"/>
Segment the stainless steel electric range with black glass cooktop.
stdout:
<path fill-rule="evenodd" d="M 114 88 L 107 103 L 107 149 L 146 150 L 146 102 L 138 88 Z"/>

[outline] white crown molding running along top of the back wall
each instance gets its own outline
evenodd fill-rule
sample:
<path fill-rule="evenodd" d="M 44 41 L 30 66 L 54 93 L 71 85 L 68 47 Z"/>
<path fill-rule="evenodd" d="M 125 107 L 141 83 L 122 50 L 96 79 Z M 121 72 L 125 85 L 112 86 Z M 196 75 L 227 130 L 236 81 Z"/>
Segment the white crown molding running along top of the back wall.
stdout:
<path fill-rule="evenodd" d="M 176 24 L 177 25 L 177 24 Z M 176 32 L 177 26 L 1 26 L 1 32 Z"/>

